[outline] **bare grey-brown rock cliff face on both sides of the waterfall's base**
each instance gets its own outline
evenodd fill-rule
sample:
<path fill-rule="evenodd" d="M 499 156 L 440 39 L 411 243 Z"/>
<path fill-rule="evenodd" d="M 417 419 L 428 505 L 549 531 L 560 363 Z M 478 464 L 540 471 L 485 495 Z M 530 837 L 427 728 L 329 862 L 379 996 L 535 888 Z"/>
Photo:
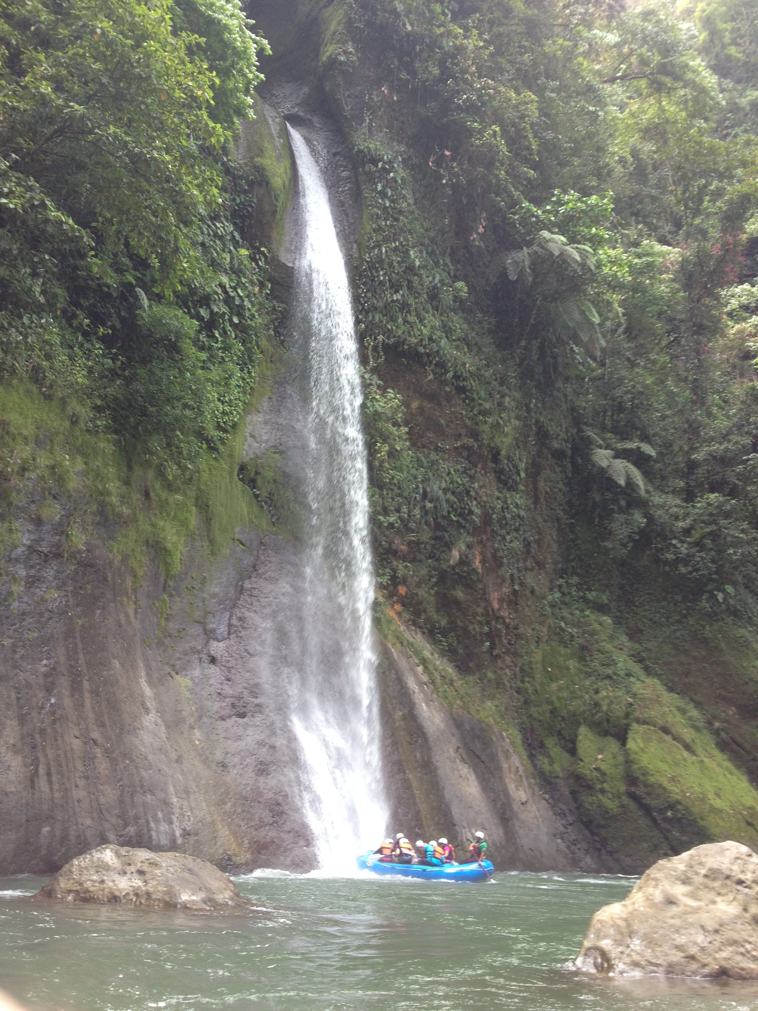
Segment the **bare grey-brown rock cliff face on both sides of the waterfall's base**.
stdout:
<path fill-rule="evenodd" d="M 54 871 L 101 843 L 313 866 L 284 697 L 255 654 L 291 544 L 240 530 L 212 562 L 198 543 L 161 628 L 157 573 L 134 587 L 101 542 L 72 565 L 42 554 L 38 526 L 26 534 L 2 619 L 0 874 Z M 502 732 L 449 710 L 389 646 L 381 683 L 393 824 L 457 847 L 483 828 L 497 866 L 597 865 Z"/>

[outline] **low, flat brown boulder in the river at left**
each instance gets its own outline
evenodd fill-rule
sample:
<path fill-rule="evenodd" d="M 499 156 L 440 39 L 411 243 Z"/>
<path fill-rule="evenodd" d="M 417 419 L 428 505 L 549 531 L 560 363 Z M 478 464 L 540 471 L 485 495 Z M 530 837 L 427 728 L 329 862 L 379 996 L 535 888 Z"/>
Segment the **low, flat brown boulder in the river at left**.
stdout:
<path fill-rule="evenodd" d="M 75 856 L 34 898 L 118 902 L 150 909 L 244 909 L 251 905 L 226 875 L 206 860 L 113 845 Z"/>

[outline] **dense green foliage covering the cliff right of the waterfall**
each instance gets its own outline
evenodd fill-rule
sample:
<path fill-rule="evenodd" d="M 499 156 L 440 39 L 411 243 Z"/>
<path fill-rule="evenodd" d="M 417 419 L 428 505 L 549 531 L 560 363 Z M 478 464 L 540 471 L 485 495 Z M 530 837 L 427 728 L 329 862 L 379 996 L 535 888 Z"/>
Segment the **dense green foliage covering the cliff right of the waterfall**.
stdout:
<path fill-rule="evenodd" d="M 634 583 L 661 566 L 705 616 L 752 621 L 749 83 L 740 124 L 725 110 L 753 57 L 736 6 L 693 16 L 665 4 L 374 0 L 351 8 L 331 73 L 349 80 L 369 50 L 382 80 L 354 137 L 370 361 L 381 377 L 382 360 L 401 356 L 462 396 L 496 477 L 485 489 L 478 467 L 464 514 L 455 491 L 432 503 L 435 538 L 470 538 L 485 509 L 517 588 L 529 431 L 550 451 L 541 466 L 571 522 L 592 531 L 566 553 L 575 574 L 602 582 L 624 558 Z M 387 442 L 382 426 L 399 431 L 399 415 L 388 391 L 382 421 L 377 396 L 375 487 L 394 498 L 379 508 L 379 537 L 394 527 L 417 540 L 417 502 L 441 463 Z"/>

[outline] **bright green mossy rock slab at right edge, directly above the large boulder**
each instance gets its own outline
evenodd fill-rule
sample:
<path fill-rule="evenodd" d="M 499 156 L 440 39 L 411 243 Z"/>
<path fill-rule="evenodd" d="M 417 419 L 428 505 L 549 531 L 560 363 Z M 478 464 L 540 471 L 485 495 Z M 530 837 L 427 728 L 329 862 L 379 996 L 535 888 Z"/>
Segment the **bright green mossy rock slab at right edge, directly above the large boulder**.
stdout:
<path fill-rule="evenodd" d="M 633 724 L 630 789 L 677 852 L 734 839 L 758 846 L 758 794 L 704 731 L 688 749 L 656 727 Z"/>

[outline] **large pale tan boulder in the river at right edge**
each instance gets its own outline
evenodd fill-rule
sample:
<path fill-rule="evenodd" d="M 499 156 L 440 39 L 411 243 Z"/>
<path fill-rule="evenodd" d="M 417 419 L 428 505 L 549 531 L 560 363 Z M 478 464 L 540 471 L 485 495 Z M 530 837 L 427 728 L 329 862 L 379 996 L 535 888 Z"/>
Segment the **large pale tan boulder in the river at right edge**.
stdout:
<path fill-rule="evenodd" d="M 758 979 L 758 856 L 714 842 L 659 860 L 589 924 L 576 966 L 603 976 Z"/>

